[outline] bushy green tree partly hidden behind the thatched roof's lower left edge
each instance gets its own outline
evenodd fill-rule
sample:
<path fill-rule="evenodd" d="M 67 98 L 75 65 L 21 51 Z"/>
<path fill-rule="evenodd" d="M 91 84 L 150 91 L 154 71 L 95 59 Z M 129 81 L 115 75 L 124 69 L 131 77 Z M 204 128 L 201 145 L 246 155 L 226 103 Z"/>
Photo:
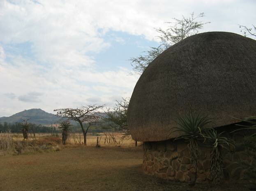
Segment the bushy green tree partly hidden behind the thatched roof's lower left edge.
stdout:
<path fill-rule="evenodd" d="M 130 98 L 122 98 L 121 101 L 116 100 L 115 107 L 113 111 L 106 112 L 105 121 L 107 122 L 107 126 L 111 126 L 111 128 L 125 132 L 124 137 L 131 135 L 128 124 L 127 124 L 127 110 L 129 106 Z M 135 146 L 137 146 L 137 141 L 135 140 Z"/>

